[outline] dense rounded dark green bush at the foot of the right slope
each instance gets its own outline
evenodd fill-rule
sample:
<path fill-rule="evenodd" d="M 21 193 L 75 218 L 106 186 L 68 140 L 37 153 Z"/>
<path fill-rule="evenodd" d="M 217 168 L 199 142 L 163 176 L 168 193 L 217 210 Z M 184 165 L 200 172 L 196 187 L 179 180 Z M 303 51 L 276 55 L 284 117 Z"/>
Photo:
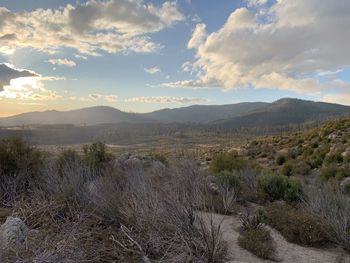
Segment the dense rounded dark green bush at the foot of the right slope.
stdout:
<path fill-rule="evenodd" d="M 299 202 L 302 198 L 302 185 L 297 179 L 272 173 L 258 178 L 258 192 L 265 200 L 285 200 L 289 203 Z"/>

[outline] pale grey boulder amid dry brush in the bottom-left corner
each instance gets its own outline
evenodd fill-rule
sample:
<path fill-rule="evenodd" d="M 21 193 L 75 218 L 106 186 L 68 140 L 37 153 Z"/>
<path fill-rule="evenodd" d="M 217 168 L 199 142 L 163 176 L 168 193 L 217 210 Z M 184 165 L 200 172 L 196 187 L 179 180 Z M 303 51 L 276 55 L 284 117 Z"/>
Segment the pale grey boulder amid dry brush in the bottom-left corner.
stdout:
<path fill-rule="evenodd" d="M 0 247 L 2 249 L 18 248 L 24 244 L 29 234 L 25 223 L 17 217 L 8 217 L 0 226 Z"/>

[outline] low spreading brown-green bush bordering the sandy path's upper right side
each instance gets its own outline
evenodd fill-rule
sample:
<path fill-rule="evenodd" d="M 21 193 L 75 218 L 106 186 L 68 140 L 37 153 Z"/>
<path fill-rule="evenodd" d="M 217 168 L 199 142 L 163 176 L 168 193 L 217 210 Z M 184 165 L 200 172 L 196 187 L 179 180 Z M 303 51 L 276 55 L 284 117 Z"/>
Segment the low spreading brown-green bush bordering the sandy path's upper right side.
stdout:
<path fill-rule="evenodd" d="M 289 242 L 317 247 L 330 241 L 329 226 L 304 210 L 274 203 L 266 211 L 268 223 Z"/>

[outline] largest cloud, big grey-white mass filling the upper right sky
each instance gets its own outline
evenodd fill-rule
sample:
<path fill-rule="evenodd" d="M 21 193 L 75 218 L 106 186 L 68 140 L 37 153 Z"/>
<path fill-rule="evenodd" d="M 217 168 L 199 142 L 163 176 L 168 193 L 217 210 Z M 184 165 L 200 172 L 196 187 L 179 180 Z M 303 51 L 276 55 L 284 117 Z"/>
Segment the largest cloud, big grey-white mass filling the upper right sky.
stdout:
<path fill-rule="evenodd" d="M 198 24 L 188 42 L 196 52 L 191 70 L 197 78 L 165 85 L 323 92 L 328 85 L 318 73 L 341 70 L 350 61 L 350 1 L 279 0 L 259 8 L 265 2 L 249 1 L 216 32 Z"/>

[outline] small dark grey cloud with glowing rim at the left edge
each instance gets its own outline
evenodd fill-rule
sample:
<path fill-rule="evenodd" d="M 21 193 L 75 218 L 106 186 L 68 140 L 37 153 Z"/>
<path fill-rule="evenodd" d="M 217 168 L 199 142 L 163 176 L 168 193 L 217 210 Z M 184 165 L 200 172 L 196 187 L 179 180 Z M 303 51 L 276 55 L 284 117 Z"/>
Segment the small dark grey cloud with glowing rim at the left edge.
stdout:
<path fill-rule="evenodd" d="M 9 86 L 11 84 L 11 80 L 39 76 L 40 75 L 35 73 L 34 71 L 27 69 L 16 69 L 11 64 L 0 63 L 0 92 L 4 90 L 5 86 Z"/>

